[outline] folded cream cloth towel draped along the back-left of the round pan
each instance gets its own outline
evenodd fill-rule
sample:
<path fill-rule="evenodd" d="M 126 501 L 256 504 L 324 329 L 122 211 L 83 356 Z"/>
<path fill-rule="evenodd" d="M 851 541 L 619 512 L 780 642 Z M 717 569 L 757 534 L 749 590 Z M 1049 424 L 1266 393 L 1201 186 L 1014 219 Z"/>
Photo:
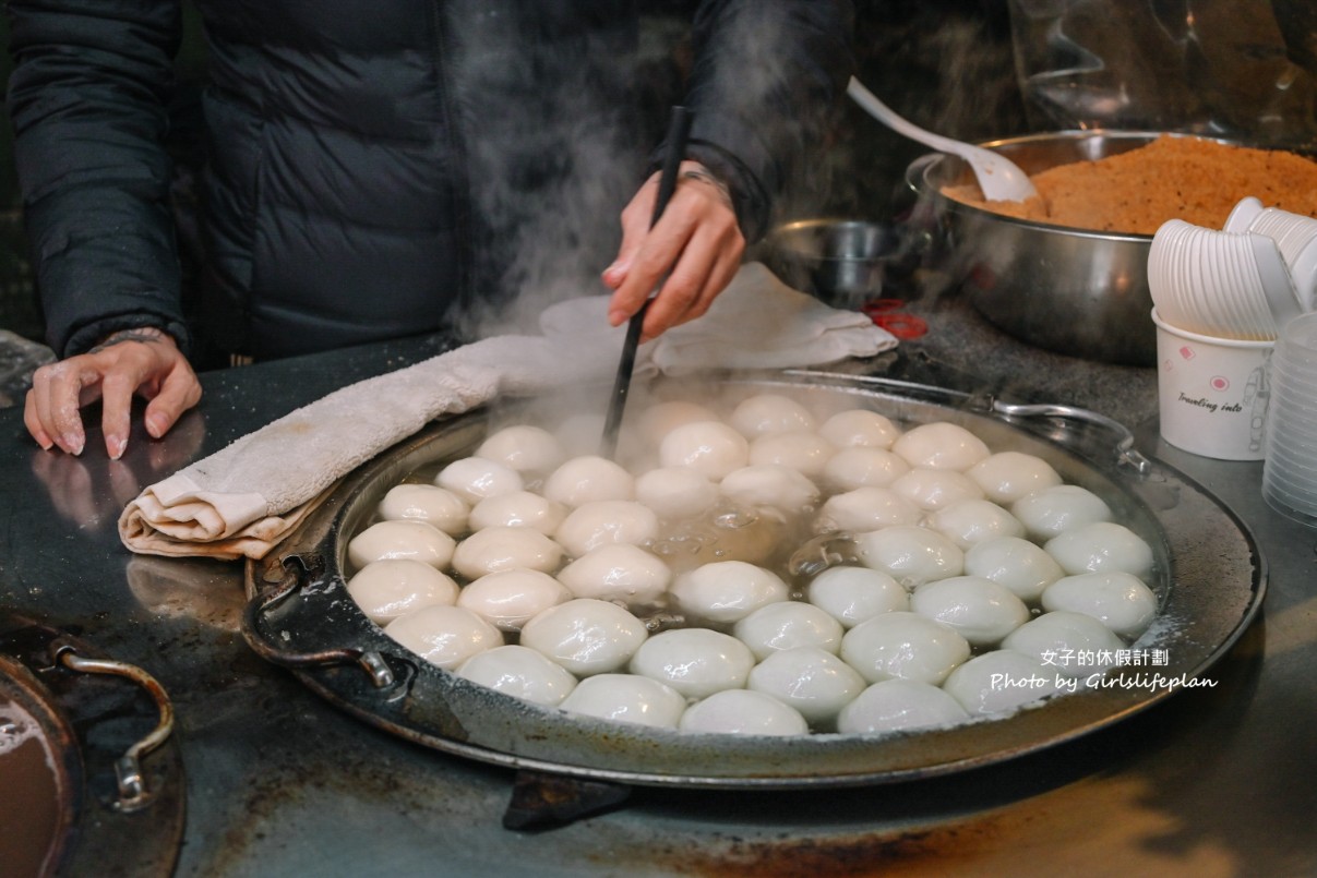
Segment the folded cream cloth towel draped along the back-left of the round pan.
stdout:
<path fill-rule="evenodd" d="M 144 490 L 120 537 L 144 554 L 262 558 L 340 478 L 435 417 L 607 382 L 624 329 L 606 328 L 606 296 L 573 299 L 544 312 L 544 336 L 486 338 L 337 390 Z M 703 317 L 643 345 L 636 374 L 819 366 L 896 344 L 752 263 Z"/>

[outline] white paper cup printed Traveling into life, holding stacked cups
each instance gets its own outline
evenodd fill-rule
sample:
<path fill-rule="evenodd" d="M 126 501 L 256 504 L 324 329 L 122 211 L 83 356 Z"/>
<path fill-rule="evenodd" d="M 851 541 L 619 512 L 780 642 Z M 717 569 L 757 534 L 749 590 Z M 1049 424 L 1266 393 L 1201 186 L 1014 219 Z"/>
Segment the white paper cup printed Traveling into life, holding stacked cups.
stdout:
<path fill-rule="evenodd" d="M 1275 341 L 1217 338 L 1156 325 L 1158 412 L 1168 444 L 1220 461 L 1264 454 Z"/>

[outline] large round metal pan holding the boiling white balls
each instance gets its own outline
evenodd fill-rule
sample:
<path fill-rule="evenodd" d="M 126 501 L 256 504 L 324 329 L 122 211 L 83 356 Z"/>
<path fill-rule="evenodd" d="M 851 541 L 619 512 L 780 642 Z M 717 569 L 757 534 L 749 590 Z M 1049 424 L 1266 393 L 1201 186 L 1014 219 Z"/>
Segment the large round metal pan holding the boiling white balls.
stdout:
<path fill-rule="evenodd" d="M 1112 671 L 1109 678 L 1122 684 L 1059 696 L 1004 719 L 923 732 L 790 738 L 681 735 L 597 721 L 471 684 L 386 637 L 348 595 L 344 573 L 346 542 L 370 521 L 383 494 L 416 470 L 469 454 L 489 429 L 487 412 L 436 423 L 362 466 L 271 555 L 250 563 L 248 641 L 342 710 L 440 750 L 647 786 L 790 788 L 946 774 L 1112 725 L 1205 679 L 1262 604 L 1264 565 L 1245 527 L 1184 475 L 1133 452 L 1129 433 L 1105 419 L 819 373 L 728 378 L 722 390 L 867 407 L 907 424 L 952 421 L 994 450 L 1047 459 L 1067 482 L 1106 499 L 1117 520 L 1154 548 L 1160 616 L 1133 649 L 1150 656 L 1155 649 L 1160 662 Z"/>

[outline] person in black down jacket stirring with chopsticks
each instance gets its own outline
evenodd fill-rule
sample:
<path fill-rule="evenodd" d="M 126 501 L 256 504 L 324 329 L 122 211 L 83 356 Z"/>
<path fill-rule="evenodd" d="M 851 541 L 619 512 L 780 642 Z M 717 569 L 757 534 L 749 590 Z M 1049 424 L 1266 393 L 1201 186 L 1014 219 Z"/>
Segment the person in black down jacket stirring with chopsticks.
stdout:
<path fill-rule="evenodd" d="M 28 395 L 42 448 L 79 454 L 79 405 L 100 399 L 117 458 L 134 394 L 162 436 L 200 399 L 190 358 L 470 337 L 535 301 L 522 294 L 598 287 L 605 265 L 614 325 L 669 270 L 644 337 L 697 317 L 852 66 L 847 1 L 699 3 L 685 174 L 651 230 L 661 146 L 639 142 L 637 0 L 194 3 L 208 43 L 195 295 L 165 146 L 182 0 L 8 4 L 16 161 L 62 357 Z"/>

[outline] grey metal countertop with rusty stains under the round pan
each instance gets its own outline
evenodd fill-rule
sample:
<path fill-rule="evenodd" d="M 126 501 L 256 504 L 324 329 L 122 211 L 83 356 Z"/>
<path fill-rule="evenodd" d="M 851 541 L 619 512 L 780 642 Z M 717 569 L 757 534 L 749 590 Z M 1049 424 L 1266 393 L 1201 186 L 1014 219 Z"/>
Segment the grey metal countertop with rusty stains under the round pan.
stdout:
<path fill-rule="evenodd" d="M 1317 532 L 1259 495 L 1259 463 L 1156 434 L 1151 369 L 1035 350 L 956 297 L 930 333 L 855 371 L 1080 405 L 1196 479 L 1252 530 L 1266 606 L 1210 674 L 1110 728 L 1000 765 L 873 787 L 636 788 L 569 825 L 502 828 L 514 773 L 338 711 L 238 631 L 236 563 L 133 557 L 115 523 L 144 486 L 296 405 L 437 353 L 415 340 L 203 375 L 159 442 L 111 462 L 41 452 L 0 412 L 0 607 L 71 631 L 170 692 L 187 777 L 179 875 L 819 875 L 1317 873 Z"/>

